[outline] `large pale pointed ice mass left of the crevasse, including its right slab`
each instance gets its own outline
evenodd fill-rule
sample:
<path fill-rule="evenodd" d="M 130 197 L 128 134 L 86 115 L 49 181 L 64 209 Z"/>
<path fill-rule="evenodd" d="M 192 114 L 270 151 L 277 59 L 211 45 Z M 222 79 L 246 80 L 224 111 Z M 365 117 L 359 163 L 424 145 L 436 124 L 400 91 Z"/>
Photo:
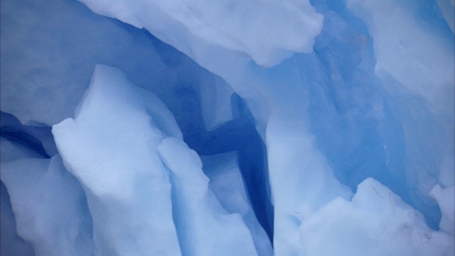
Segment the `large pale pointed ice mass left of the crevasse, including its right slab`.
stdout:
<path fill-rule="evenodd" d="M 97 65 L 75 119 L 53 134 L 87 193 L 100 255 L 257 254 L 241 215 L 209 190 L 172 114 L 120 70 Z"/>

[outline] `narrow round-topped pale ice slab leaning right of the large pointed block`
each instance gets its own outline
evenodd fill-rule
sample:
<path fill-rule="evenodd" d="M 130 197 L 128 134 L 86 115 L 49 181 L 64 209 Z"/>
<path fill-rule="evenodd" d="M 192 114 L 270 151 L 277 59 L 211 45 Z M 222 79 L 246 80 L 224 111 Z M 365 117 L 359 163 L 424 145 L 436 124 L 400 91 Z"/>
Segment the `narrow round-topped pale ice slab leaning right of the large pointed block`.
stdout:
<path fill-rule="evenodd" d="M 178 139 L 158 147 L 173 184 L 173 215 L 182 251 L 191 256 L 258 255 L 242 215 L 228 213 L 209 189 L 202 162 Z"/>

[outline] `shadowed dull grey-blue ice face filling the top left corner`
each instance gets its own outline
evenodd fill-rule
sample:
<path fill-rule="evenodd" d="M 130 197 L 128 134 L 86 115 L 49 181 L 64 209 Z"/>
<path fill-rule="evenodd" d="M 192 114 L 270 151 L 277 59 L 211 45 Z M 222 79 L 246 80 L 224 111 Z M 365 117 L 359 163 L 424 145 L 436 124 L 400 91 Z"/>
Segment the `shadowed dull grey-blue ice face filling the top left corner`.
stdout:
<path fill-rule="evenodd" d="M 97 63 L 142 70 L 137 85 L 164 68 L 147 36 L 91 16 L 77 1 L 3 1 L 0 26 L 1 110 L 23 124 L 71 117 Z"/>

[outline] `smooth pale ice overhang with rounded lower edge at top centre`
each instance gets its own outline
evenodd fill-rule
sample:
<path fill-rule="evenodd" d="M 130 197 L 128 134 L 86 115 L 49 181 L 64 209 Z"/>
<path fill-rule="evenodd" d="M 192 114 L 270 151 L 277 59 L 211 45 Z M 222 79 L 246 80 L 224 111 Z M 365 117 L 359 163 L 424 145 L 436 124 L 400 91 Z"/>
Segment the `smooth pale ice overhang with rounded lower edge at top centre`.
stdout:
<path fill-rule="evenodd" d="M 97 14 L 146 28 L 198 63 L 245 55 L 264 67 L 277 65 L 311 52 L 323 19 L 308 0 L 82 2 Z"/>

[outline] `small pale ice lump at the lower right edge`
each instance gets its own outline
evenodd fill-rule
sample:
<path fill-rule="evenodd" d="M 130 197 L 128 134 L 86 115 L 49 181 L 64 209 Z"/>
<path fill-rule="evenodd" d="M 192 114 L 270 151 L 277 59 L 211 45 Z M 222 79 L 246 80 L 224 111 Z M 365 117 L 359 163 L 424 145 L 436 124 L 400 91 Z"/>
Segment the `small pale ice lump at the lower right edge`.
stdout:
<path fill-rule="evenodd" d="M 455 233 L 455 186 L 449 186 L 448 188 L 441 188 L 439 184 L 434 186 L 430 191 L 430 196 L 434 198 L 441 208 L 442 218 L 439 223 L 439 228 L 444 230 L 446 233 Z"/>

